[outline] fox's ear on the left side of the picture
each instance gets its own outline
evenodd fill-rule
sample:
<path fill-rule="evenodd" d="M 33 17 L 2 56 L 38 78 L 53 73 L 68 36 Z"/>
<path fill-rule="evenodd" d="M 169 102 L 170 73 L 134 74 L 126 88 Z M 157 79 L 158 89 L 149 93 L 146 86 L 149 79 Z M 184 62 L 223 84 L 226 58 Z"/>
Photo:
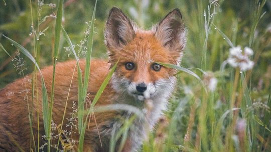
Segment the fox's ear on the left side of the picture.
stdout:
<path fill-rule="evenodd" d="M 117 7 L 110 10 L 104 31 L 105 45 L 117 49 L 134 37 L 134 29 L 129 18 Z"/>

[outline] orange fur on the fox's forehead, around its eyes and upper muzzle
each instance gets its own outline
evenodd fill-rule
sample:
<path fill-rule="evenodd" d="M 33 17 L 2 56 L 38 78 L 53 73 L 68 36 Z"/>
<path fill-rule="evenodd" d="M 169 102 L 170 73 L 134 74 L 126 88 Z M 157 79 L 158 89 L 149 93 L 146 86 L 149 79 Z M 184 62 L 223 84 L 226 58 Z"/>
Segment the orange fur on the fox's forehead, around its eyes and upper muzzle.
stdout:
<path fill-rule="evenodd" d="M 161 68 L 160 72 L 152 70 L 151 65 L 154 61 L 171 64 L 176 64 L 177 61 L 177 57 L 174 58 L 174 55 L 162 46 L 152 32 L 144 31 L 137 33 L 134 39 L 123 48 L 121 53 L 114 55 L 114 60 L 118 58 L 118 76 L 124 76 L 134 82 L 155 82 L 160 78 L 167 78 L 175 74 L 174 69 L 167 67 Z M 129 61 L 137 63 L 131 71 L 127 71 L 125 66 L 123 66 Z"/>

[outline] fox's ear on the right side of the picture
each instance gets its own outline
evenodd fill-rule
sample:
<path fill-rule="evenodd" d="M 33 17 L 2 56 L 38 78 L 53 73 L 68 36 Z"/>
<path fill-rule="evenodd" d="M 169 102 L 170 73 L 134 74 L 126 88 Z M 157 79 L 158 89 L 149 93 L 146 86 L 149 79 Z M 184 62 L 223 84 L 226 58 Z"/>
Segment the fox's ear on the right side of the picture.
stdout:
<path fill-rule="evenodd" d="M 155 29 L 155 36 L 172 51 L 182 51 L 186 44 L 186 31 L 178 8 L 169 12 Z"/>

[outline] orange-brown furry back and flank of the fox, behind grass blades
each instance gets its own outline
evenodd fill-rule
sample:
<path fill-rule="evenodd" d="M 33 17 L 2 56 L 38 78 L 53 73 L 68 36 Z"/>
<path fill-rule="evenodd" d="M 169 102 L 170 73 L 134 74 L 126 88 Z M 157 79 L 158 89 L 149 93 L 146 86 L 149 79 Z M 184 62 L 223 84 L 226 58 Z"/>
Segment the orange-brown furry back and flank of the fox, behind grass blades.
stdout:
<path fill-rule="evenodd" d="M 85 61 L 80 60 L 80 68 L 84 75 Z M 109 64 L 106 60 L 93 59 L 91 61 L 91 70 L 89 76 L 89 87 L 87 92 L 86 107 L 89 107 L 90 102 L 94 98 L 101 83 L 109 71 Z M 51 98 L 52 75 L 53 66 L 47 66 L 41 70 L 45 80 L 48 98 Z M 34 134 L 44 132 L 43 117 L 42 117 L 42 94 L 41 94 L 41 78 L 37 72 L 37 80 L 35 81 L 38 89 L 35 89 L 34 98 L 32 98 L 32 79 L 33 74 L 24 78 L 18 79 L 11 84 L 8 84 L 4 89 L 0 90 L 0 151 L 5 150 L 18 150 L 15 146 L 17 143 L 20 147 L 29 149 L 30 147 L 30 123 L 29 112 L 33 113 L 33 131 Z M 35 78 L 34 78 L 35 79 Z M 35 87 L 36 87 L 35 86 Z M 61 124 L 65 103 L 67 101 L 67 111 L 71 112 L 72 108 L 77 108 L 78 100 L 78 73 L 76 60 L 60 62 L 56 65 L 55 73 L 55 86 L 54 86 L 54 104 L 53 104 L 53 120 L 55 123 Z M 105 92 L 100 97 L 96 105 L 110 104 L 111 99 L 114 98 L 114 92 L 110 89 L 110 84 L 105 88 Z M 33 102 L 32 102 L 33 101 Z M 33 112 L 32 111 L 33 103 Z M 75 104 L 74 104 L 75 103 Z M 38 113 L 39 111 L 39 113 Z M 39 114 L 39 116 L 38 116 Z M 65 117 L 69 118 L 67 112 Z M 102 123 L 110 114 L 96 115 L 98 122 Z M 39 117 L 40 128 L 38 128 L 37 118 Z M 67 120 L 64 121 L 64 127 L 68 124 Z M 90 123 L 90 128 L 95 127 L 95 124 Z M 35 134 L 36 135 L 36 134 Z M 44 134 L 40 134 L 42 136 Z M 76 137 L 75 137 L 76 138 Z M 9 141 L 8 141 L 9 140 Z M 15 143 L 14 145 L 11 144 Z M 7 143 L 7 144 L 6 144 Z"/>

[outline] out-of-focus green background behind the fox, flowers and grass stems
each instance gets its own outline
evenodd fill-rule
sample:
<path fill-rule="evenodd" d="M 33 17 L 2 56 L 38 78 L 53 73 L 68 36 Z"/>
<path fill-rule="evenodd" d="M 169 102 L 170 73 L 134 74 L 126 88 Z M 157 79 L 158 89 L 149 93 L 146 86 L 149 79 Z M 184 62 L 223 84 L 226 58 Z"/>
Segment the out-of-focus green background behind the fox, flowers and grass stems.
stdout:
<path fill-rule="evenodd" d="M 33 13 L 31 13 L 30 2 L 32 2 Z M 95 0 L 65 0 L 64 2 L 62 24 L 78 49 L 88 26 L 85 22 L 91 19 Z M 159 22 L 170 10 L 180 8 L 188 31 L 187 46 L 181 65 L 186 68 L 196 67 L 200 70 L 212 71 L 218 79 L 218 84 L 215 91 L 210 91 L 206 95 L 202 93 L 203 89 L 199 81 L 187 73 L 181 73 L 178 76 L 177 91 L 170 100 L 169 110 L 166 111 L 170 121 L 169 124 L 166 124 L 168 129 L 163 130 L 166 127 L 159 125 L 157 134 L 151 134 L 150 136 L 153 135 L 153 138 L 150 137 L 150 140 L 161 137 L 158 132 L 162 128 L 162 134 L 166 136 L 165 138 L 168 137 L 169 144 L 167 145 L 170 148 L 182 149 L 187 134 L 191 134 L 191 142 L 188 139 L 189 143 L 185 143 L 185 147 L 196 149 L 196 151 L 200 151 L 201 148 L 202 151 L 220 149 L 216 146 L 224 148 L 224 144 L 220 145 L 220 140 L 224 141 L 227 135 L 225 130 L 231 122 L 225 120 L 218 129 L 216 126 L 221 117 L 230 110 L 231 96 L 234 98 L 241 95 L 243 97 L 240 106 L 242 110 L 237 121 L 240 119 L 247 121 L 246 135 L 249 139 L 245 138 L 249 148 L 242 147 L 242 149 L 245 149 L 244 151 L 270 151 L 271 131 L 267 131 L 264 127 L 271 128 L 271 99 L 268 99 L 271 92 L 271 0 L 266 0 L 262 8 L 258 7 L 261 2 L 264 0 L 98 0 L 92 55 L 107 58 L 103 31 L 112 6 L 121 8 L 140 27 L 146 29 Z M 42 22 L 39 25 L 39 31 L 43 34 L 38 40 L 38 62 L 41 67 L 52 64 L 54 13 L 57 9 L 54 7 L 55 3 L 58 1 L 46 0 L 44 3 L 43 1 L 38 3 L 37 0 L 0 0 L 0 42 L 12 56 L 10 57 L 0 48 L 0 88 L 16 78 L 22 77 L 22 72 L 20 72 L 22 69 L 25 74 L 33 71 L 31 61 L 22 54 L 18 57 L 16 48 L 2 36 L 5 34 L 33 52 L 31 14 L 33 14 L 35 30 L 38 27 L 38 20 Z M 213 4 L 209 10 L 210 3 Z M 239 90 L 236 92 L 232 90 L 235 68 L 224 64 L 228 58 L 230 46 L 212 23 L 208 24 L 211 28 L 208 31 L 207 47 L 204 47 L 206 39 L 204 12 L 215 12 L 209 20 L 213 20 L 213 24 L 230 39 L 234 46 L 240 45 L 241 48 L 248 46 L 254 50 L 254 54 L 250 58 L 255 63 L 254 67 L 252 70 L 242 73 L 246 79 L 239 78 Z M 262 14 L 264 15 L 260 18 Z M 60 47 L 63 49 L 59 52 L 58 62 L 73 58 L 68 51 L 65 51 L 64 47 L 67 46 L 62 37 Z M 22 59 L 20 60 L 20 58 Z M 20 64 L 18 64 L 19 60 Z M 206 62 L 206 68 L 204 68 L 203 62 Z M 22 64 L 24 66 L 19 66 Z M 191 70 L 201 78 L 204 77 L 199 70 L 195 68 Z M 247 81 L 247 84 L 243 84 L 244 81 Z M 245 92 L 238 94 L 243 90 Z M 262 124 L 258 120 L 262 120 Z M 214 132 L 216 130 L 221 130 L 221 134 L 216 135 Z M 202 134 L 199 137 L 200 133 Z M 231 135 L 236 137 L 234 136 L 236 134 Z M 219 139 L 215 138 L 218 136 Z M 144 151 L 148 151 L 146 149 L 152 145 L 154 144 L 145 144 Z M 157 148 L 156 151 L 161 151 L 159 146 L 154 145 L 154 147 Z M 206 150 L 212 148 L 213 150 Z"/>

